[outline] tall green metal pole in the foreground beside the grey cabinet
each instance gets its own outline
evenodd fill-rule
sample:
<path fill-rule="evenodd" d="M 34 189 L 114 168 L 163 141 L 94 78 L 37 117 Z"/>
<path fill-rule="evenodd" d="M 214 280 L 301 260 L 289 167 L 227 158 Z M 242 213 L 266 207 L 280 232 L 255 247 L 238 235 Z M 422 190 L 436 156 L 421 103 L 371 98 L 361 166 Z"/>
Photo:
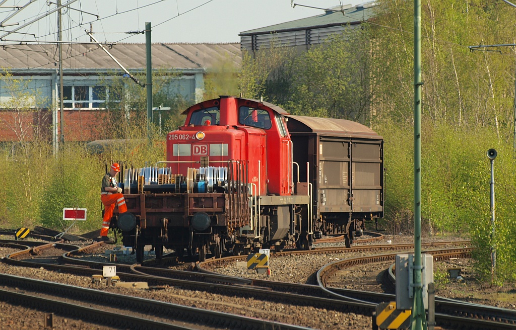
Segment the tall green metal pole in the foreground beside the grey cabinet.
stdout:
<path fill-rule="evenodd" d="M 421 0 L 414 0 L 414 305 L 412 330 L 427 328 L 421 257 Z"/>

